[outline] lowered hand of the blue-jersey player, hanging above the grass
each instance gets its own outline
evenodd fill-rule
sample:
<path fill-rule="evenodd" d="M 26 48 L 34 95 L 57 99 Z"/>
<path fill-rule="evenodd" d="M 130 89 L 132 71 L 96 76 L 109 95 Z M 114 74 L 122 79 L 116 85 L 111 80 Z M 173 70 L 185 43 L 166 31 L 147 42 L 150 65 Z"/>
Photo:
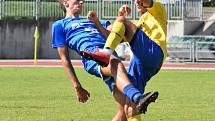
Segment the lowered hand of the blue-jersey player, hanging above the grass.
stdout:
<path fill-rule="evenodd" d="M 76 91 L 76 96 L 79 102 L 85 103 L 89 97 L 90 97 L 90 93 L 85 90 L 84 88 L 80 87 L 76 87 L 75 88 Z"/>

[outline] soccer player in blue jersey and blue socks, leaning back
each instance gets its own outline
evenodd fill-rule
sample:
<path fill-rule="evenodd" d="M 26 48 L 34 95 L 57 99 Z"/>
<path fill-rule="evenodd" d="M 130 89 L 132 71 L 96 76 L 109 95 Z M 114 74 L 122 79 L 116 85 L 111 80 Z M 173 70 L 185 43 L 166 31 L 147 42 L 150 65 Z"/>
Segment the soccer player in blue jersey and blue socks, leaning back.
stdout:
<path fill-rule="evenodd" d="M 62 64 L 69 75 L 79 102 L 86 102 L 90 93 L 85 90 L 78 80 L 71 64 L 68 49 L 73 49 L 77 53 L 82 51 L 95 52 L 98 48 L 103 48 L 109 32 L 108 21 L 97 21 L 80 18 L 83 0 L 59 0 L 64 10 L 65 18 L 53 23 L 52 26 L 52 47 L 57 48 Z M 94 15 L 92 12 L 88 16 Z M 95 24 L 95 22 L 97 24 Z M 117 103 L 118 112 L 113 121 L 127 121 L 127 114 L 137 115 L 145 113 L 147 106 L 156 100 L 157 93 L 142 93 L 134 87 L 127 76 L 126 69 L 122 62 L 115 56 L 110 57 L 107 67 L 99 66 L 93 60 L 82 58 L 84 69 L 97 77 L 102 78 L 109 86 Z M 129 108 L 133 110 L 128 110 Z M 131 112 L 129 112 L 131 111 Z"/>

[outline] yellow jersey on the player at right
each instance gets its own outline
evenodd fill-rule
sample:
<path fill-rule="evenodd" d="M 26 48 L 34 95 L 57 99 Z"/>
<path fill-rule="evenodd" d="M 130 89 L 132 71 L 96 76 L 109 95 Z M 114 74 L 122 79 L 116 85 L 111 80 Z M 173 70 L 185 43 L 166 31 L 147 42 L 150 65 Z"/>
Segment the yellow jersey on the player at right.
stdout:
<path fill-rule="evenodd" d="M 160 2 L 154 2 L 151 8 L 147 8 L 147 12 L 140 17 L 136 25 L 161 47 L 165 59 L 167 56 L 167 15 L 164 6 Z"/>

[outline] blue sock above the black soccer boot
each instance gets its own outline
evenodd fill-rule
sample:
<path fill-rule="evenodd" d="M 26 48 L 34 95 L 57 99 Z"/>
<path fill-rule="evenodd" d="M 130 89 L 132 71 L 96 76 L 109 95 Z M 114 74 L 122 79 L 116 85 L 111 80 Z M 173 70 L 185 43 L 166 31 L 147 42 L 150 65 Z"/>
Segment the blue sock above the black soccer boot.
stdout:
<path fill-rule="evenodd" d="M 134 103 L 138 101 L 142 95 L 138 89 L 136 89 L 132 84 L 129 84 L 124 87 L 123 93 Z"/>

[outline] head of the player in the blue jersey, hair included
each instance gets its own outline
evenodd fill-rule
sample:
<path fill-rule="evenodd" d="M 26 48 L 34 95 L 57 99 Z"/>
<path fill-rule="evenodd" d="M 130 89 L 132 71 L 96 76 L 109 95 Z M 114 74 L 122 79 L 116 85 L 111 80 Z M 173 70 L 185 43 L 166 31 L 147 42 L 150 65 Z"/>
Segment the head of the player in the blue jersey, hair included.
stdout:
<path fill-rule="evenodd" d="M 58 0 L 65 13 L 80 14 L 82 11 L 83 0 Z"/>

